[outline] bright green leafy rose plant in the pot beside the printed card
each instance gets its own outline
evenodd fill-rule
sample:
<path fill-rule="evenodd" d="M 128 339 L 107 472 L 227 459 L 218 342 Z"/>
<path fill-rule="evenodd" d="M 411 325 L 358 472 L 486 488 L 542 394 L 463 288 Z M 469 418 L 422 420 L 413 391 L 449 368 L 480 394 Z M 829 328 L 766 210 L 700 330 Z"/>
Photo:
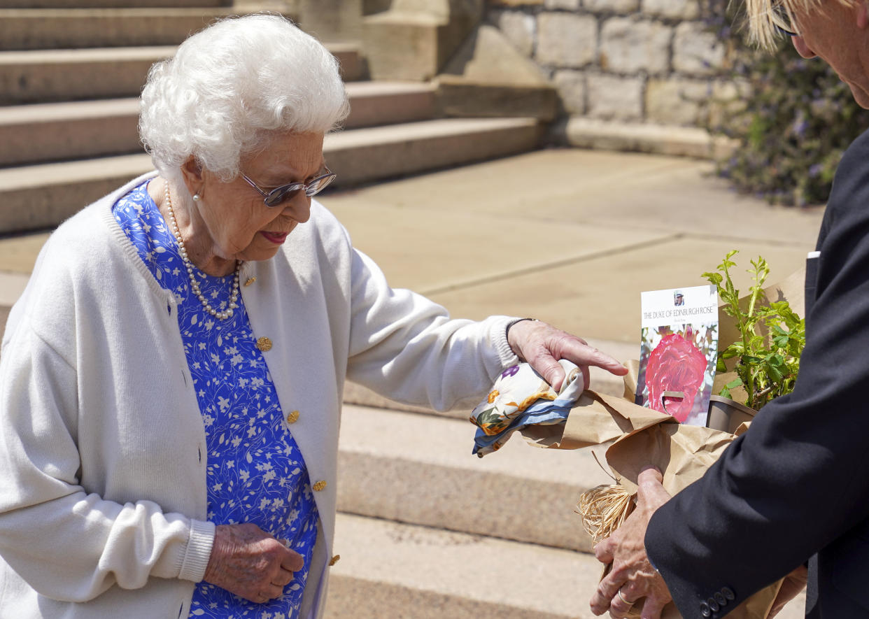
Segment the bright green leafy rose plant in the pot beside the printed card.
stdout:
<path fill-rule="evenodd" d="M 718 288 L 724 311 L 736 319 L 741 336 L 719 352 L 716 369 L 726 372 L 726 359 L 736 358 L 739 378 L 725 385 L 720 395 L 729 398 L 731 389 L 745 387 L 746 405 L 760 411 L 771 399 L 793 391 L 799 356 L 806 346 L 806 321 L 793 312 L 787 301 L 766 300 L 763 284 L 769 275 L 769 265 L 760 256 L 747 269 L 754 283 L 747 304 L 740 304 L 740 291 L 730 279 L 730 269 L 736 266 L 730 259 L 737 253 L 735 249 L 727 253 L 718 273 L 703 273 Z"/>

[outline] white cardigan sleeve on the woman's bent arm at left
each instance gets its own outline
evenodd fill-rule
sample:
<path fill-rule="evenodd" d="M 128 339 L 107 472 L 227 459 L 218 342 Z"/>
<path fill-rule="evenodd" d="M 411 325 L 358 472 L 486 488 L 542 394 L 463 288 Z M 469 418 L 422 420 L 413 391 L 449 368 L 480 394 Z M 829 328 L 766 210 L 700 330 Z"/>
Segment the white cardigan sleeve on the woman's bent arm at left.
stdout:
<path fill-rule="evenodd" d="M 0 555 L 38 593 L 67 602 L 150 576 L 201 580 L 214 525 L 85 491 L 75 367 L 26 315 L 13 328 L 0 359 Z"/>

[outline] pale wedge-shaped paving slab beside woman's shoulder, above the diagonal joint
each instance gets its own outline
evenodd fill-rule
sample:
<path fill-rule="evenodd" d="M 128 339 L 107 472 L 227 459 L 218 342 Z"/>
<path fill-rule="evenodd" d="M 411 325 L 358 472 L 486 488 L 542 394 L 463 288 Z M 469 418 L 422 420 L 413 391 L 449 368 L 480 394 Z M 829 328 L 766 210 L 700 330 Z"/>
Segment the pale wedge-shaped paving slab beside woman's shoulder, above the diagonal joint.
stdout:
<path fill-rule="evenodd" d="M 450 192 L 441 190 L 441 195 L 445 193 Z M 348 227 L 355 247 L 375 257 L 393 286 L 425 294 L 501 281 L 521 273 L 533 276 L 556 265 L 619 254 L 673 238 L 656 230 L 493 217 L 473 208 L 360 207 L 352 197 L 335 200 L 328 196 L 323 203 Z M 584 242 L 561 242 L 571 238 L 583 238 Z"/>

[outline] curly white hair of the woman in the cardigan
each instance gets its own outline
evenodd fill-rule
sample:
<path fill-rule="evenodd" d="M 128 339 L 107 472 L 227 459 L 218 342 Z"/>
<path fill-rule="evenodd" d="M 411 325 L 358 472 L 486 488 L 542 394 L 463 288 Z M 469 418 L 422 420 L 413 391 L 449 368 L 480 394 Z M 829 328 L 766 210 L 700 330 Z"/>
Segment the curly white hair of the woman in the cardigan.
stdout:
<path fill-rule="evenodd" d="M 163 175 L 190 155 L 230 181 L 242 155 L 275 133 L 327 133 L 348 114 L 338 62 L 313 36 L 269 14 L 229 17 L 151 67 L 139 135 Z"/>

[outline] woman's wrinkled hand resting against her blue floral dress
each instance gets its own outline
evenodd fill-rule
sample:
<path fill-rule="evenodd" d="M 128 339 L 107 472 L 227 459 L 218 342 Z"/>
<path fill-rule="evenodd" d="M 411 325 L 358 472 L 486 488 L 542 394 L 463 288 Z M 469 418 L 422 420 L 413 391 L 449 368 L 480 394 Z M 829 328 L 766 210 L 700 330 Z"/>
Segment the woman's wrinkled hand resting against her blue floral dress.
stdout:
<path fill-rule="evenodd" d="M 255 524 L 218 524 L 203 580 L 264 603 L 281 596 L 303 566 L 302 555 Z"/>

